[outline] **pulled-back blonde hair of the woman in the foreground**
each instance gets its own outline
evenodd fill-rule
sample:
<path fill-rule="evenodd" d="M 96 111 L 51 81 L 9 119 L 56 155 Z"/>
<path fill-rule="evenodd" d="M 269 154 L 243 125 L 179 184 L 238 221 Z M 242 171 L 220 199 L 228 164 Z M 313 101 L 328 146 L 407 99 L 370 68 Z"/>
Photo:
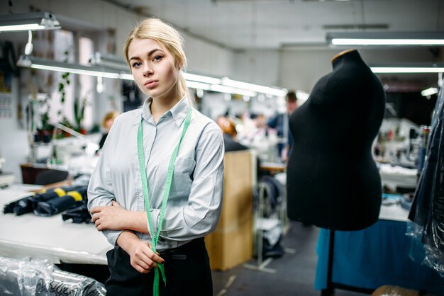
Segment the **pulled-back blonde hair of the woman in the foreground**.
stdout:
<path fill-rule="evenodd" d="M 179 69 L 177 94 L 182 96 L 182 93 L 184 93 L 184 95 L 187 96 L 189 103 L 194 106 L 194 99 L 189 94 L 189 89 L 182 74 L 182 69 L 187 69 L 187 57 L 183 49 L 184 39 L 179 32 L 177 32 L 172 25 L 164 23 L 158 18 L 146 18 L 144 21 L 138 23 L 138 25 L 136 25 L 129 33 L 123 47 L 123 56 L 125 57 L 128 66 L 130 66 L 130 69 L 131 65 L 128 57 L 128 47 L 130 46 L 131 41 L 136 38 L 155 40 L 159 42 L 162 47 L 165 47 L 165 50 L 170 52 L 174 59 L 174 67 L 176 67 L 176 69 L 179 67 L 181 68 Z"/>

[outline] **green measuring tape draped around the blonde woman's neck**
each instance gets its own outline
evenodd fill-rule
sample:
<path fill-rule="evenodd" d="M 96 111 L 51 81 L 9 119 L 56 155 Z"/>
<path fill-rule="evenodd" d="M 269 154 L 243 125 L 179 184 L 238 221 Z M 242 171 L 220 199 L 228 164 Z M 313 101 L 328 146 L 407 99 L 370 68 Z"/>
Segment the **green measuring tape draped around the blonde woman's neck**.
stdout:
<path fill-rule="evenodd" d="M 151 249 L 156 253 L 157 241 L 159 240 L 160 230 L 162 228 L 163 218 L 165 217 L 165 209 L 167 207 L 168 196 L 170 195 L 172 176 L 174 174 L 174 161 L 177 158 L 177 152 L 179 152 L 180 144 L 182 143 L 182 139 L 184 138 L 185 132 L 188 130 L 189 122 L 192 118 L 192 108 L 188 108 L 187 118 L 185 118 L 184 129 L 182 130 L 182 135 L 180 136 L 179 143 L 174 147 L 170 158 L 170 164 L 168 164 L 168 173 L 167 180 L 165 181 L 165 190 L 163 191 L 163 199 L 162 199 L 162 207 L 160 209 L 159 220 L 157 223 L 157 229 L 152 227 L 152 219 L 150 214 L 151 202 L 150 196 L 148 195 L 148 179 L 146 176 L 145 169 L 145 155 L 143 151 L 143 132 L 142 132 L 142 120 L 140 120 L 138 133 L 137 133 L 137 150 L 139 157 L 139 169 L 140 169 L 140 178 L 142 178 L 142 189 L 143 189 L 143 198 L 145 199 L 145 209 L 148 216 L 148 224 L 150 225 L 150 234 L 151 234 Z M 157 230 L 155 232 L 155 230 Z M 162 273 L 162 280 L 167 285 L 167 278 L 165 277 L 165 267 L 161 263 L 157 263 L 157 268 L 154 270 L 154 285 L 152 287 L 152 294 L 154 296 L 159 295 L 159 270 Z"/>

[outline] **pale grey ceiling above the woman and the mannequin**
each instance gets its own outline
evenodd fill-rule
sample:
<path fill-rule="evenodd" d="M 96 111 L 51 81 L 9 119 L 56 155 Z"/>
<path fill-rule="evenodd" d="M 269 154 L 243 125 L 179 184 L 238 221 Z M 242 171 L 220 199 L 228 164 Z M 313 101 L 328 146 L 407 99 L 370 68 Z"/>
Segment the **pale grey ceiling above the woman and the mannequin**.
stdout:
<path fill-rule="evenodd" d="M 444 31 L 443 0 L 106 0 L 231 50 L 326 47 L 327 32 Z"/>

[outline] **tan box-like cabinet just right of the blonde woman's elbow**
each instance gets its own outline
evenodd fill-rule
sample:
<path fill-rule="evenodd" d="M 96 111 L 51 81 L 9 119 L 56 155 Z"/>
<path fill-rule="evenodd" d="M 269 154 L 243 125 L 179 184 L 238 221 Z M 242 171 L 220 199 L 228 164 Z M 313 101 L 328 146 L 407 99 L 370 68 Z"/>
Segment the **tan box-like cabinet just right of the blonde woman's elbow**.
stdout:
<path fill-rule="evenodd" d="M 205 238 L 211 269 L 226 271 L 252 258 L 252 188 L 255 156 L 226 152 L 221 219 Z"/>

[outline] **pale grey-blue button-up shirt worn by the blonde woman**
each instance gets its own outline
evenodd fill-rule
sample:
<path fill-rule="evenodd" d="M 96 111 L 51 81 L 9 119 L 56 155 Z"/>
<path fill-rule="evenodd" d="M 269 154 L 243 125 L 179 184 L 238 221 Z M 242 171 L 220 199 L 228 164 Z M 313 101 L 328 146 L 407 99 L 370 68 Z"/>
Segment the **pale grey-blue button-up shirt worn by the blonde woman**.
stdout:
<path fill-rule="evenodd" d="M 142 109 L 128 111 L 114 120 L 89 181 L 88 208 L 111 205 L 111 200 L 116 200 L 127 210 L 145 211 L 137 150 L 138 125 L 143 119 L 150 215 L 153 227 L 157 229 L 168 164 L 182 135 L 189 103 L 187 98 L 182 98 L 162 115 L 157 124 L 152 118 L 150 103 L 148 98 Z M 223 154 L 220 128 L 193 109 L 174 164 L 157 251 L 181 246 L 216 228 L 222 207 Z M 121 231 L 106 230 L 103 233 L 115 245 Z M 151 241 L 150 234 L 135 234 Z"/>

